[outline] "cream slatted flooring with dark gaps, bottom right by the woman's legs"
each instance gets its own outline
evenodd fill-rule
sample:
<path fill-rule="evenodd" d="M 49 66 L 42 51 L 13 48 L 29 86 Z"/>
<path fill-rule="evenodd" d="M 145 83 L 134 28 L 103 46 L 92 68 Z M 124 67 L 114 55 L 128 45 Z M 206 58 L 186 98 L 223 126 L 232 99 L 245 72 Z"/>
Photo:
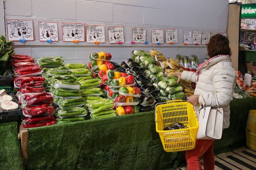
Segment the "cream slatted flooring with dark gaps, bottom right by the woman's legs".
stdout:
<path fill-rule="evenodd" d="M 202 170 L 204 169 L 203 163 Z M 187 167 L 178 168 L 187 170 Z M 256 152 L 246 147 L 215 156 L 215 170 L 256 170 Z"/>

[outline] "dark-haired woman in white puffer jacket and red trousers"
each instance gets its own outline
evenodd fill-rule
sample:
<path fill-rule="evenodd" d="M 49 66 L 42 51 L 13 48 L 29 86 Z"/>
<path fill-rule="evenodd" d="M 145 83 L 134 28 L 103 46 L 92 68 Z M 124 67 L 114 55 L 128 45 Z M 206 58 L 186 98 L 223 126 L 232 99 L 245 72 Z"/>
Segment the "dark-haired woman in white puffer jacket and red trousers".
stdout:
<path fill-rule="evenodd" d="M 209 60 L 198 66 L 197 71 L 183 71 L 182 74 L 174 73 L 181 79 L 197 83 L 195 93 L 188 97 L 188 102 L 199 109 L 205 106 L 217 108 L 217 103 L 224 111 L 223 128 L 229 127 L 229 103 L 235 87 L 236 73 L 232 67 L 227 37 L 217 34 L 211 37 L 207 45 Z M 216 98 L 215 98 L 216 96 Z M 200 125 L 199 125 L 200 126 Z M 186 160 L 189 170 L 201 170 L 200 157 L 203 156 L 205 170 L 214 170 L 214 140 L 196 140 L 196 146 L 186 151 Z"/>

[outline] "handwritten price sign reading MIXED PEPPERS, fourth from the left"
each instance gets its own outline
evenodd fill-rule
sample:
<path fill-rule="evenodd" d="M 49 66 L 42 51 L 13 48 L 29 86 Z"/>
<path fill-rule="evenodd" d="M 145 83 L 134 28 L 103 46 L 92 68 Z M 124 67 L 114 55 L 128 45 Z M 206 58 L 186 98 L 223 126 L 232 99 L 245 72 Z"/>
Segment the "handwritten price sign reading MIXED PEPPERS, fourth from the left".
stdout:
<path fill-rule="evenodd" d="M 86 25 L 86 41 L 87 42 L 105 42 L 105 26 L 104 25 Z"/>

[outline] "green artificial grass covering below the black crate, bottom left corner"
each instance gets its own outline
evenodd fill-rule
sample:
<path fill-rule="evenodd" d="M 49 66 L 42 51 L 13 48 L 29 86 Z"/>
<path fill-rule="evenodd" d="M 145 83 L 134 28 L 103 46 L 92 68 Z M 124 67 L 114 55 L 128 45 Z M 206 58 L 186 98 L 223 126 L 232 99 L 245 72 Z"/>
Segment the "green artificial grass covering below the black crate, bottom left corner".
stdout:
<path fill-rule="evenodd" d="M 0 169 L 24 169 L 17 122 L 0 124 Z"/>

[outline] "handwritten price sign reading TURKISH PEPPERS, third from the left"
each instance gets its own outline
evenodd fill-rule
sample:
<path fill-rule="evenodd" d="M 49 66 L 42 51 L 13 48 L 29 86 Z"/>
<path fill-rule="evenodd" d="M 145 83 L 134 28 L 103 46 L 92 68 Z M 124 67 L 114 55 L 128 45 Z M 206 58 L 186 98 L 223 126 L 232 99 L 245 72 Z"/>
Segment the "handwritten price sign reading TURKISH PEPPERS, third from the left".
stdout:
<path fill-rule="evenodd" d="M 83 23 L 62 23 L 63 41 L 72 42 L 78 40 L 85 41 L 85 25 Z"/>

